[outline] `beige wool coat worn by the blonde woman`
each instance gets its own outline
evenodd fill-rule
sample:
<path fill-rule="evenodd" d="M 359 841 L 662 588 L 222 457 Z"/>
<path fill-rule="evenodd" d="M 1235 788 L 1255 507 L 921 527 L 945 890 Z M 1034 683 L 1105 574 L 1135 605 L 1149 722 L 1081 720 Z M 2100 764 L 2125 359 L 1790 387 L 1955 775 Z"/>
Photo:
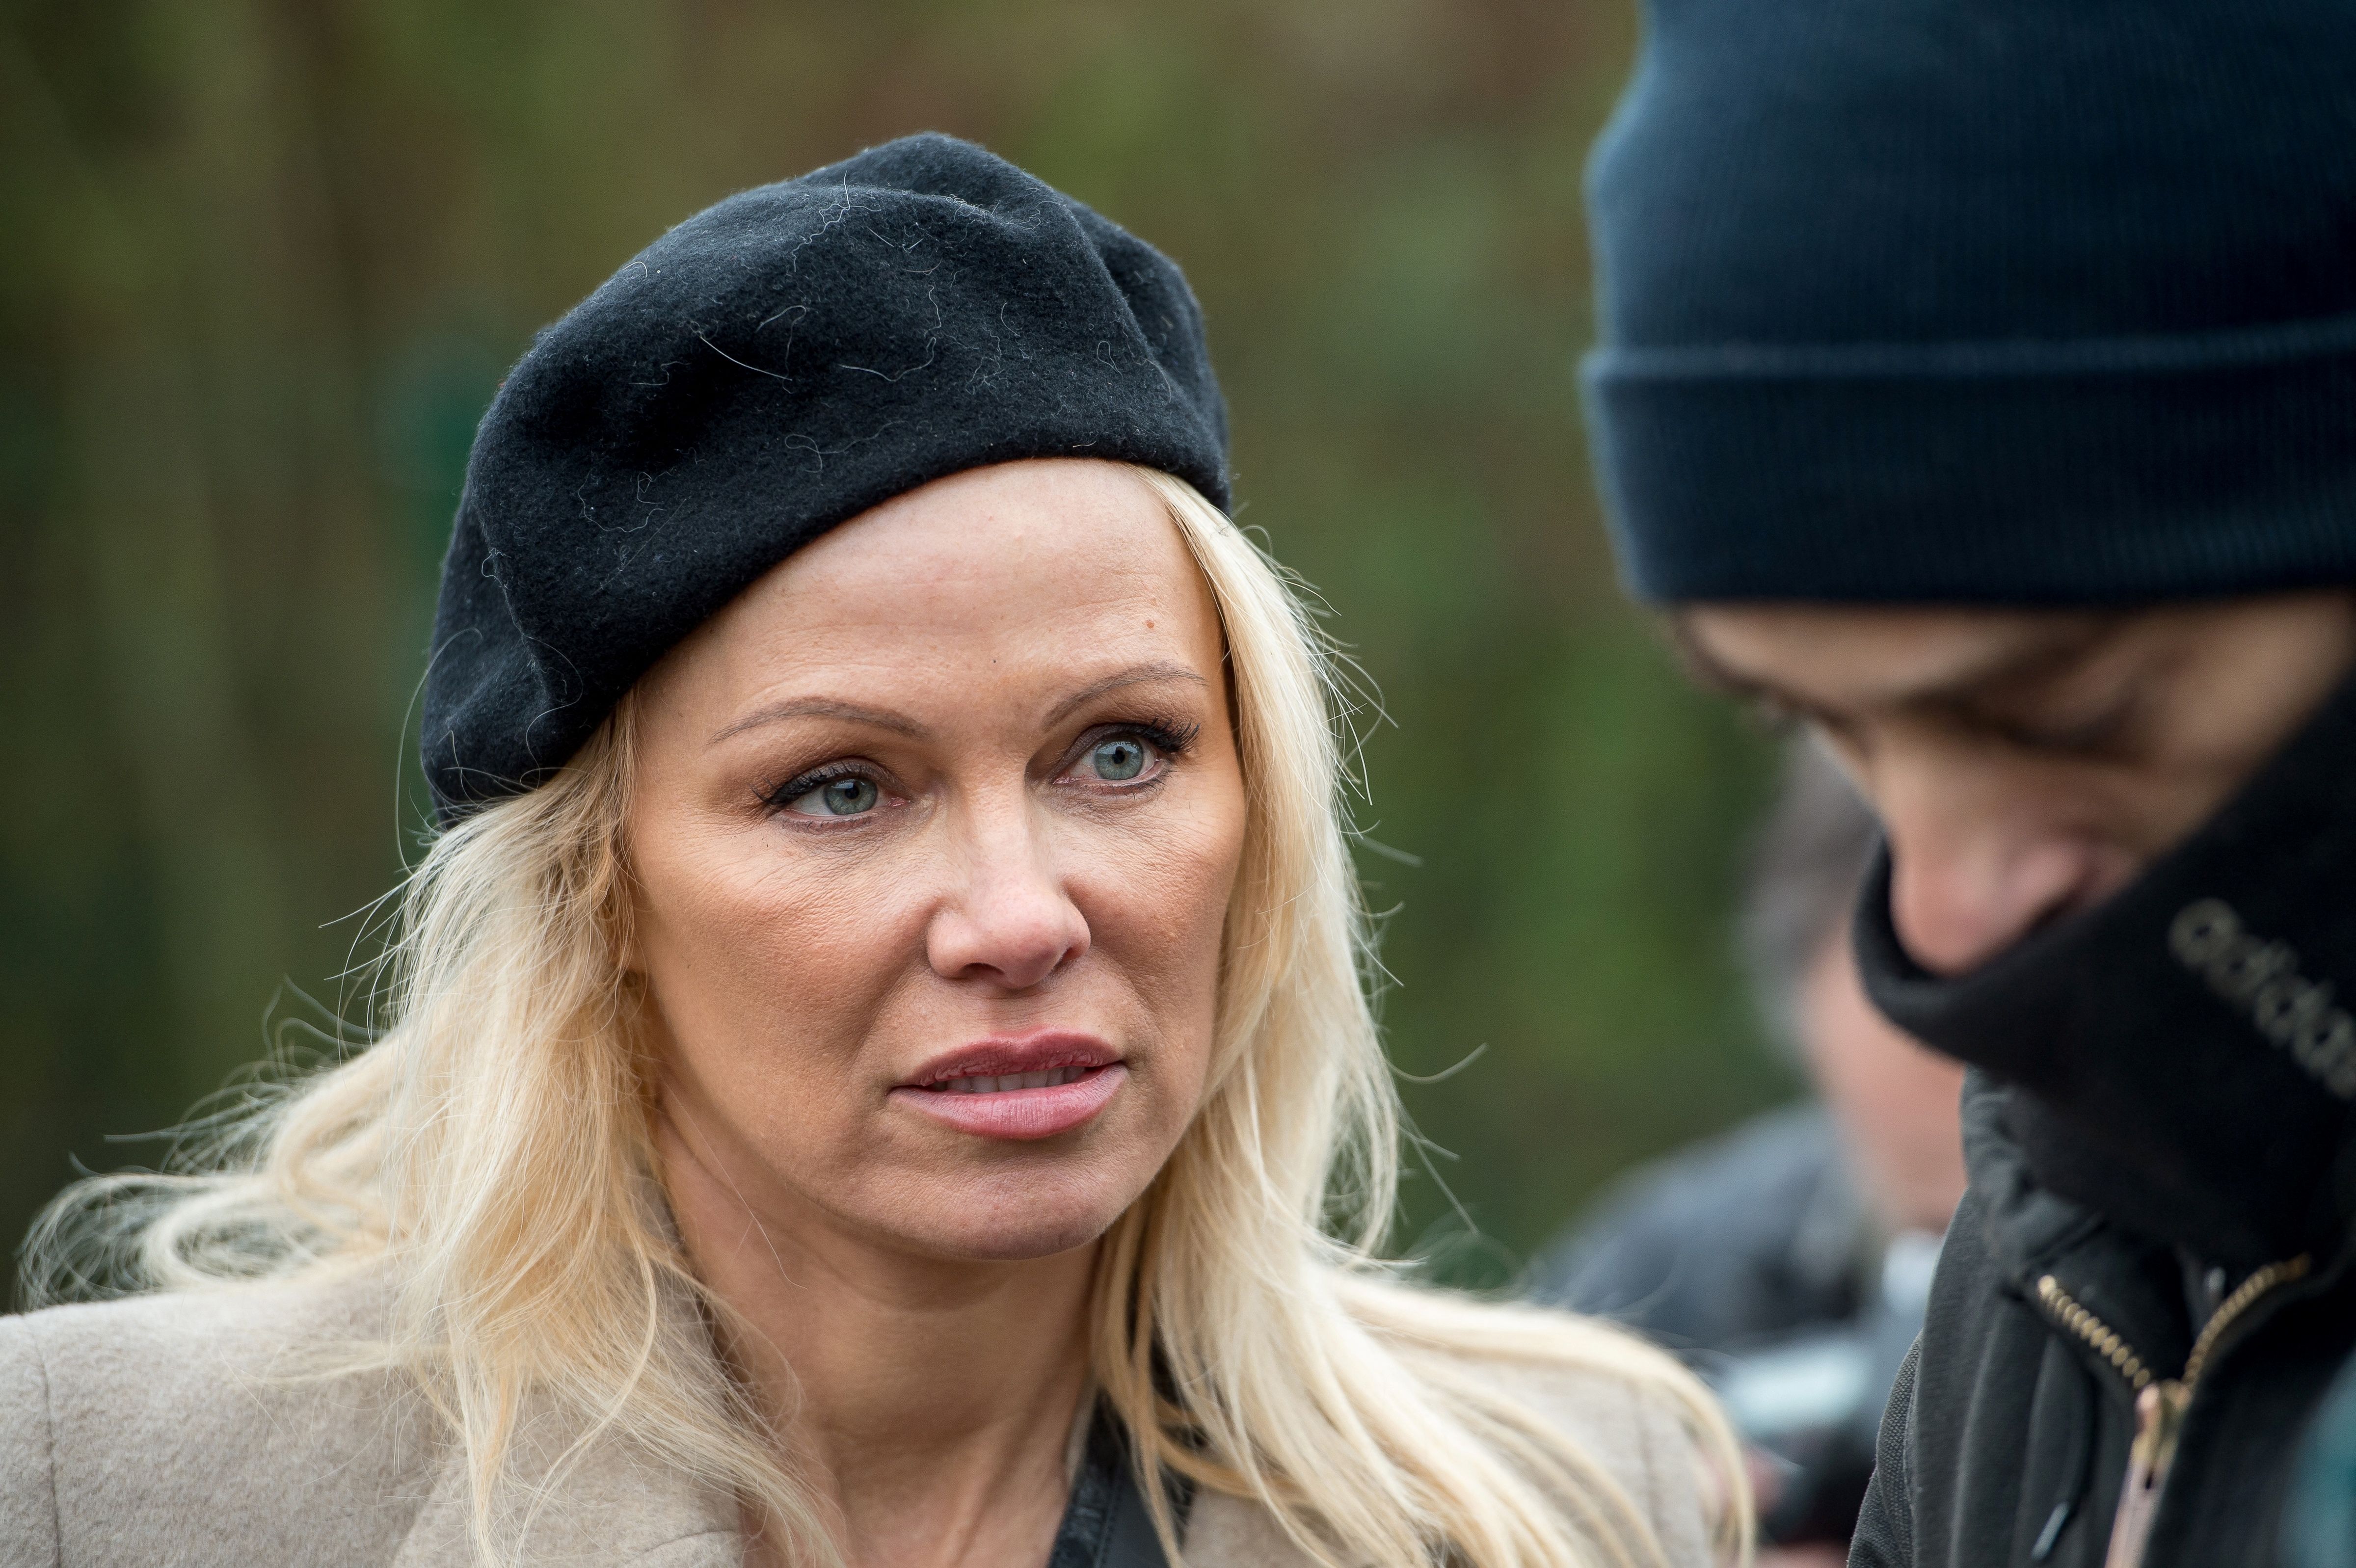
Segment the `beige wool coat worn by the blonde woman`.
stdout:
<path fill-rule="evenodd" d="M 0 1316 L 0 1568 L 469 1568 L 462 1467 L 398 1373 L 304 1373 L 382 1335 L 368 1281 Z M 1670 1563 L 1710 1561 L 1692 1446 L 1609 1380 L 1562 1420 Z M 735 1502 L 620 1446 L 547 1493 L 532 1568 L 740 1568 Z M 1249 1502 L 1202 1495 L 1185 1568 L 1305 1568 Z"/>

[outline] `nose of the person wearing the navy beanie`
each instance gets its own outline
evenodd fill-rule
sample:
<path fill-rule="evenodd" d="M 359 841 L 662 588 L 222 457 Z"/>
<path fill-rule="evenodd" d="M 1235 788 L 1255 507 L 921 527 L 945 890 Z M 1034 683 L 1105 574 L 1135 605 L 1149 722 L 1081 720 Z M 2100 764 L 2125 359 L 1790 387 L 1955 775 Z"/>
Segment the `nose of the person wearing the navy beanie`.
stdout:
<path fill-rule="evenodd" d="M 1963 975 L 2090 902 L 2104 852 L 2003 779 L 1922 765 L 1878 777 L 1890 923 L 1925 970 Z"/>

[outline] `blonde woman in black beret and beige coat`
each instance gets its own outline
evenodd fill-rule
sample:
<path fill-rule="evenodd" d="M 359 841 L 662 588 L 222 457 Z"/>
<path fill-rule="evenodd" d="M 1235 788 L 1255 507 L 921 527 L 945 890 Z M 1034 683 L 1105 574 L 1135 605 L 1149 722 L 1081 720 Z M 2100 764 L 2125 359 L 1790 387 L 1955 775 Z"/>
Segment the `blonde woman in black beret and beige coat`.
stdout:
<path fill-rule="evenodd" d="M 1329 671 L 1220 501 L 1178 271 L 940 137 L 542 334 L 386 1029 L 35 1236 L 151 1293 L 0 1321 L 0 1561 L 1734 1552 L 1682 1370 L 1374 1262 Z"/>

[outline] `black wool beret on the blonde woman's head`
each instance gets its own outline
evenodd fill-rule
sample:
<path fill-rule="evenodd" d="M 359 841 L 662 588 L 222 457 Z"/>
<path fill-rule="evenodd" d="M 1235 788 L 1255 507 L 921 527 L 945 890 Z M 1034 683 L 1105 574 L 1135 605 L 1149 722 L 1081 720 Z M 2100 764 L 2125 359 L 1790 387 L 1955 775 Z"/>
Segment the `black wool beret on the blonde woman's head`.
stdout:
<path fill-rule="evenodd" d="M 1202 308 L 1157 250 L 931 134 L 679 224 L 537 337 L 476 431 L 424 687 L 441 819 L 544 782 L 836 523 L 1025 457 L 1227 506 Z"/>

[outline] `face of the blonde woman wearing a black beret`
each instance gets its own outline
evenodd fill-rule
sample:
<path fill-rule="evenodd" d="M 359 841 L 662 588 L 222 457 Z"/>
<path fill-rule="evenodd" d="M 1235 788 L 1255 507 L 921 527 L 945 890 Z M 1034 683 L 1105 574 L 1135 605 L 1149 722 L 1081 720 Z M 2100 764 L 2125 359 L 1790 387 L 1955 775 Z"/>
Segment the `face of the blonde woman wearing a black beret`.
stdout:
<path fill-rule="evenodd" d="M 1220 655 L 1159 497 L 1079 459 L 902 494 L 681 643 L 629 815 L 671 1158 L 931 1257 L 1103 1234 L 1202 1102 Z"/>

